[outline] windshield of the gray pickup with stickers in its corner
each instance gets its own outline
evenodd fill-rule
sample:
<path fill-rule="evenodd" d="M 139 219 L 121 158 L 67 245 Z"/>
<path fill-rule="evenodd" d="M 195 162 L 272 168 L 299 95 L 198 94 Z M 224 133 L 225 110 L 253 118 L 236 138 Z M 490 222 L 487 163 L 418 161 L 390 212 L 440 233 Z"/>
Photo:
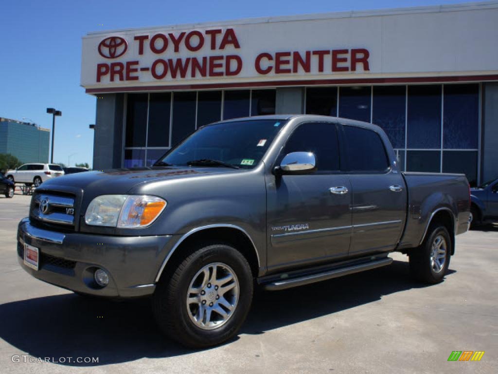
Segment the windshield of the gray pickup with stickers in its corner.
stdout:
<path fill-rule="evenodd" d="M 217 161 L 252 169 L 259 163 L 284 124 L 284 121 L 277 120 L 249 120 L 205 126 L 156 164 L 160 165 L 162 161 L 168 165 L 223 166 L 208 163 Z"/>

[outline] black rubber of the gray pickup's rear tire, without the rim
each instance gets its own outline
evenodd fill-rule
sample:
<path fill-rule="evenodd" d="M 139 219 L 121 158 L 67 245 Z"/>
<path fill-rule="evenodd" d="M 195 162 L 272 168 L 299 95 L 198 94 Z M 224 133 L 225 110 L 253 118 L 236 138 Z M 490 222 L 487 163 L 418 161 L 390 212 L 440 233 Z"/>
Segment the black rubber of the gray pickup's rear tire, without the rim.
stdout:
<path fill-rule="evenodd" d="M 432 262 L 432 246 L 438 237 L 444 238 L 446 246 L 445 261 L 440 271 L 436 271 L 433 268 Z M 436 284 L 441 282 L 450 265 L 452 249 L 452 241 L 448 229 L 444 226 L 431 225 L 427 230 L 426 238 L 422 245 L 412 249 L 409 254 L 412 276 L 422 283 Z"/>

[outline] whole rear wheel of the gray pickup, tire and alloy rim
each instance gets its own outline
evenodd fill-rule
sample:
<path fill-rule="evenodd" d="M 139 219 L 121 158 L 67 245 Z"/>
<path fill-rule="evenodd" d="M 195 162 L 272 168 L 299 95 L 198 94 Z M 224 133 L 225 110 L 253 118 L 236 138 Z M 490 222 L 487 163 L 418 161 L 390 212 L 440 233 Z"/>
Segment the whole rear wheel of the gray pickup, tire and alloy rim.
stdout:
<path fill-rule="evenodd" d="M 419 248 L 410 253 L 410 271 L 420 282 L 435 284 L 443 280 L 452 252 L 450 234 L 444 226 L 431 226 Z"/>

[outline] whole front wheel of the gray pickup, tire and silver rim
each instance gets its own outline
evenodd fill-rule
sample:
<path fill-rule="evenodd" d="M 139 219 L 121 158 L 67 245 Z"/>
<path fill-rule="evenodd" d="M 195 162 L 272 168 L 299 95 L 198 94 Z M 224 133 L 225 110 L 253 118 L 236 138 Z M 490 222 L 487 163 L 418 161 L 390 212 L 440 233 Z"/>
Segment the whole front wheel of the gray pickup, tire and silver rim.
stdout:
<path fill-rule="evenodd" d="M 189 348 L 233 338 L 246 320 L 253 279 L 246 258 L 225 244 L 201 245 L 163 274 L 152 298 L 161 330 Z"/>

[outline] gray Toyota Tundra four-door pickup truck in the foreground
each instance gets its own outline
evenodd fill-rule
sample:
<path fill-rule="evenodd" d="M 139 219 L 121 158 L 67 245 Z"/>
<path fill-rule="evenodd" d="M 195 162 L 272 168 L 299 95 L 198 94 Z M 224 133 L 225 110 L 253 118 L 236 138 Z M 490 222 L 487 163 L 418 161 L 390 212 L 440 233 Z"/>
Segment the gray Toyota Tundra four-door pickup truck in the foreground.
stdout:
<path fill-rule="evenodd" d="M 200 348 L 238 333 L 255 286 L 385 266 L 393 251 L 440 282 L 469 223 L 465 176 L 400 172 L 379 127 L 264 116 L 204 126 L 150 168 L 45 182 L 17 255 L 79 294 L 151 296 L 161 330 Z"/>

